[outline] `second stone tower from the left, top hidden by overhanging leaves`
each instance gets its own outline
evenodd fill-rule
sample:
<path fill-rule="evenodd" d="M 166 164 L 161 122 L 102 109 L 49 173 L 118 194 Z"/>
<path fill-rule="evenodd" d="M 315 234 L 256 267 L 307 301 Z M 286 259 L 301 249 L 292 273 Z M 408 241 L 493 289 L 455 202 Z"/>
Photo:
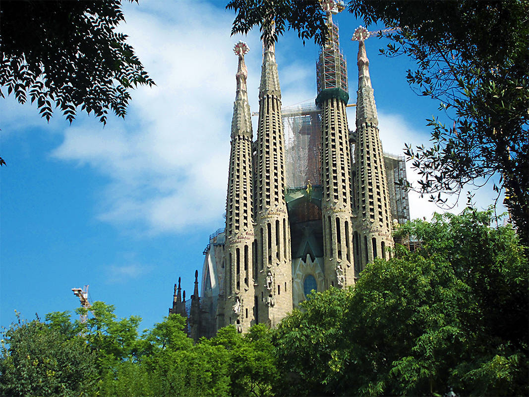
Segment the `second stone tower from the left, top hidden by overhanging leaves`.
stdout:
<path fill-rule="evenodd" d="M 272 44 L 263 48 L 254 186 L 256 322 L 275 327 L 292 310 L 290 228 L 285 202 L 281 89 Z M 281 293 L 282 292 L 282 293 Z"/>

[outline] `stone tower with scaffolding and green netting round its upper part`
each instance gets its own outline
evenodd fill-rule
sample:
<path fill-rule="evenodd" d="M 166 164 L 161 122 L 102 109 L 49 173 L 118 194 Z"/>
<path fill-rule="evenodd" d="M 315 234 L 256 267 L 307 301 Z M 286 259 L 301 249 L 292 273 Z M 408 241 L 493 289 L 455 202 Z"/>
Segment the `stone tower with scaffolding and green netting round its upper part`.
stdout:
<path fill-rule="evenodd" d="M 349 100 L 347 68 L 340 51 L 338 26 L 332 14 L 340 3 L 325 0 L 329 38 L 317 64 L 318 96 L 322 110 L 322 218 L 326 287 L 354 284 L 352 255 L 351 155 L 345 106 Z"/>

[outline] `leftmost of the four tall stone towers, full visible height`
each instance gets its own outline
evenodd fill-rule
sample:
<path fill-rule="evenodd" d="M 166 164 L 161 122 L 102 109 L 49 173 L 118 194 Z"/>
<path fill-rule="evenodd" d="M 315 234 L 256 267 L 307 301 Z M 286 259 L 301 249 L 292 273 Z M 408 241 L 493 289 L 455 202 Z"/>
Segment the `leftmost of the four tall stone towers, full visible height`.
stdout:
<path fill-rule="evenodd" d="M 246 89 L 248 71 L 244 64 L 249 47 L 239 41 L 233 51 L 239 57 L 239 67 L 233 105 L 226 241 L 222 259 L 226 275 L 219 293 L 217 327 L 234 324 L 238 331 L 245 332 L 253 320 L 252 123 Z"/>

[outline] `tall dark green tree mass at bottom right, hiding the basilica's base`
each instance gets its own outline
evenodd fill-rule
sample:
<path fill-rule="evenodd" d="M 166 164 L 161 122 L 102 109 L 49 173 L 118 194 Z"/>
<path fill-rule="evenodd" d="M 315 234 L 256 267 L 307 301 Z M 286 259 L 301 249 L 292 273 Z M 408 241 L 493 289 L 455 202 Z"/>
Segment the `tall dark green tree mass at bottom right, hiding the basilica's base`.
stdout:
<path fill-rule="evenodd" d="M 529 265 L 491 211 L 436 215 L 350 290 L 315 294 L 273 339 L 290 395 L 526 395 Z M 315 361 L 314 361 L 315 360 Z"/>

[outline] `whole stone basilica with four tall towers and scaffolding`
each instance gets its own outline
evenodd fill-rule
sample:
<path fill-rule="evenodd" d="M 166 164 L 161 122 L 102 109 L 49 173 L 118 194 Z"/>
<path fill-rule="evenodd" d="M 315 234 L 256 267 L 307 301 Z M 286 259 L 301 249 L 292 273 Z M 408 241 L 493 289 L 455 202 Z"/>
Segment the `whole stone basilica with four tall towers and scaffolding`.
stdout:
<path fill-rule="evenodd" d="M 317 61 L 316 105 L 281 108 L 275 47 L 263 50 L 257 139 L 248 103 L 248 46 L 239 42 L 225 228 L 204 250 L 186 302 L 180 280 L 170 313 L 188 317 L 190 336 L 212 337 L 233 324 L 276 327 L 311 291 L 354 285 L 375 258 L 387 259 L 394 223 L 409 220 L 402 158 L 385 154 L 364 40 L 359 42 L 355 130 L 348 127 L 346 62 L 332 14 L 324 2 L 329 39 Z M 353 105 L 354 106 L 354 105 Z"/>

